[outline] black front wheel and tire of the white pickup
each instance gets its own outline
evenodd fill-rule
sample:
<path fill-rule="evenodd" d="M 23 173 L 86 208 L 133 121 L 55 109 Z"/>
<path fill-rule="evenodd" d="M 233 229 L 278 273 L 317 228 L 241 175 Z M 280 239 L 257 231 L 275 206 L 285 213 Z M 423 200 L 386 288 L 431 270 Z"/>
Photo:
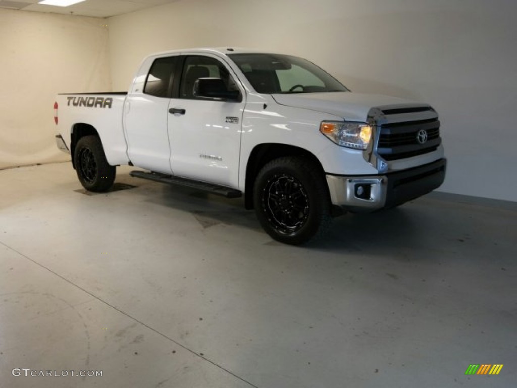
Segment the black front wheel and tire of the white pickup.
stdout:
<path fill-rule="evenodd" d="M 275 240 L 299 245 L 324 234 L 330 225 L 330 200 L 322 172 L 300 157 L 282 157 L 258 173 L 255 213 Z"/>

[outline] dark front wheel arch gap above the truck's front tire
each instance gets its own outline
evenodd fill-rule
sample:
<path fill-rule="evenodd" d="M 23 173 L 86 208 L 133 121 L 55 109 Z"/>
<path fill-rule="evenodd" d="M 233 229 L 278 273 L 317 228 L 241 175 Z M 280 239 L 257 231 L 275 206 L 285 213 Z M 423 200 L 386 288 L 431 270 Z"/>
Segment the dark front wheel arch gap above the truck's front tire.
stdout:
<path fill-rule="evenodd" d="M 284 156 L 299 156 L 307 158 L 320 170 L 322 176 L 325 176 L 325 170 L 323 169 L 320 160 L 305 148 L 283 143 L 257 144 L 251 151 L 246 165 L 244 203 L 248 210 L 253 208 L 253 185 L 258 172 L 266 165 L 266 163 Z"/>

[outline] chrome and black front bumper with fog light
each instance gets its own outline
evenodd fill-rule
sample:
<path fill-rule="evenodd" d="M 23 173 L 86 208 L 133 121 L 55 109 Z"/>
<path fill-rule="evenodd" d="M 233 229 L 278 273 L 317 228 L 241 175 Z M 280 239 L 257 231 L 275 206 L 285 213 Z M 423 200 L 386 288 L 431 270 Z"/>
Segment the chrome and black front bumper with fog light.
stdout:
<path fill-rule="evenodd" d="M 332 204 L 348 211 L 375 211 L 421 197 L 445 180 L 446 159 L 383 175 L 327 174 Z"/>

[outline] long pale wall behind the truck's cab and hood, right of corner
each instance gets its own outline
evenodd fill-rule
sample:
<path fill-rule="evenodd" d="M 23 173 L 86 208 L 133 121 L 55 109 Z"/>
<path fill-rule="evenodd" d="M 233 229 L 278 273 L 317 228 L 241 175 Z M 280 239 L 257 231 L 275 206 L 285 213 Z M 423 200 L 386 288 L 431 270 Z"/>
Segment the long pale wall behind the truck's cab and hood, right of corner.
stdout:
<path fill-rule="evenodd" d="M 112 81 L 142 57 L 238 46 L 311 59 L 355 92 L 430 102 L 449 170 L 442 191 L 517 201 L 514 0 L 180 0 L 109 19 Z"/>

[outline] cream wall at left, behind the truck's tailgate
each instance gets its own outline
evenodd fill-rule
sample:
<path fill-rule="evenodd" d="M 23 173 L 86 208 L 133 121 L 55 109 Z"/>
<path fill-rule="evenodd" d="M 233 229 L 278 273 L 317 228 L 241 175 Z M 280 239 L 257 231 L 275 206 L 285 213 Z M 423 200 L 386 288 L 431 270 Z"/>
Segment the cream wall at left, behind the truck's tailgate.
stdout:
<path fill-rule="evenodd" d="M 0 9 L 0 168 L 67 160 L 56 93 L 111 89 L 105 20 Z"/>

